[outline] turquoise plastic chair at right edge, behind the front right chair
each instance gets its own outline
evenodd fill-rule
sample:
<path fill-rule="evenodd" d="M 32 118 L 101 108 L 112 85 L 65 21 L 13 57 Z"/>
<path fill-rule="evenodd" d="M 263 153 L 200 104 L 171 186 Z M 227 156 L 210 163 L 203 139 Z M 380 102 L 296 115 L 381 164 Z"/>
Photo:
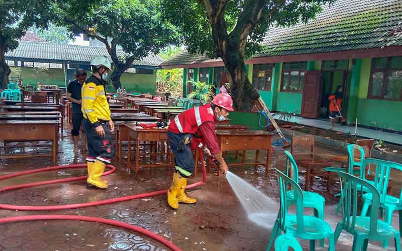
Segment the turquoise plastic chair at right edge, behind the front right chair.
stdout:
<path fill-rule="evenodd" d="M 366 159 L 363 161 L 363 165 L 375 166 L 375 178 L 374 187 L 377 188 L 380 194 L 379 207 L 384 209 L 385 217 L 384 221 L 388 224 L 392 222 L 393 211 L 399 212 L 399 232 L 402 228 L 402 189 L 399 194 L 399 198 L 387 194 L 389 174 L 391 170 L 402 171 L 402 165 L 390 161 Z M 372 205 L 372 194 L 365 193 L 362 195 L 363 207 L 361 209 L 361 216 L 366 216 L 369 206 Z M 383 247 L 388 246 L 388 241 L 382 242 Z"/>

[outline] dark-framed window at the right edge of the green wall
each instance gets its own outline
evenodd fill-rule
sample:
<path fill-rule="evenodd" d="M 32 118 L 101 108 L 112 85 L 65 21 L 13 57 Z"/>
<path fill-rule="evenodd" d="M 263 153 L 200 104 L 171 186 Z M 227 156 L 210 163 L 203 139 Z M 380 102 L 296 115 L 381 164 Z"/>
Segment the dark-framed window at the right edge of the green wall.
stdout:
<path fill-rule="evenodd" d="M 367 96 L 402 101 L 402 57 L 373 58 Z"/>

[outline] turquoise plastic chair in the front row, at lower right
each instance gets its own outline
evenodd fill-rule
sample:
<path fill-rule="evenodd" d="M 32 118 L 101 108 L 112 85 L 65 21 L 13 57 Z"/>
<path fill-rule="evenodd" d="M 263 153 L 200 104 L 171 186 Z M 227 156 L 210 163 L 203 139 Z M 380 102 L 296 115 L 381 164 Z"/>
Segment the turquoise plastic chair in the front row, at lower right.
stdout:
<path fill-rule="evenodd" d="M 341 183 L 343 205 L 342 221 L 335 229 L 337 241 L 342 230 L 353 234 L 352 251 L 367 250 L 368 241 L 395 240 L 395 250 L 400 251 L 400 233 L 392 225 L 378 219 L 380 194 L 375 186 L 367 181 L 345 172 L 338 172 Z M 358 187 L 372 194 L 372 205 L 369 216 L 357 216 Z"/>

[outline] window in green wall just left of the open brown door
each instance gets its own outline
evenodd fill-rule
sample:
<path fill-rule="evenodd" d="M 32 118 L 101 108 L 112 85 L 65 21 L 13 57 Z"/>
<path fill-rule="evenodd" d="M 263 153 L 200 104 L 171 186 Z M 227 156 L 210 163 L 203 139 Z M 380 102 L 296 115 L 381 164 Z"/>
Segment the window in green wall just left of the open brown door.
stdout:
<path fill-rule="evenodd" d="M 305 84 L 307 62 L 283 63 L 281 92 L 302 92 Z"/>

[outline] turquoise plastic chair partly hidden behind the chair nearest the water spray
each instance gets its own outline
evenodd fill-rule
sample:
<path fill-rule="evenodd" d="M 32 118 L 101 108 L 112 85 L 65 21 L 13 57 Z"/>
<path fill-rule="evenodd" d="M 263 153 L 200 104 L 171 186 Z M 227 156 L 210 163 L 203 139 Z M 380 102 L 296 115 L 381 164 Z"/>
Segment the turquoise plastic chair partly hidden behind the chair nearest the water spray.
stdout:
<path fill-rule="evenodd" d="M 293 181 L 298 184 L 298 168 L 296 161 L 293 159 L 292 154 L 285 150 L 286 155 L 286 175 L 290 177 L 290 169 L 293 172 Z M 286 194 L 288 206 L 296 204 L 293 196 L 293 191 L 288 191 Z M 324 220 L 324 205 L 325 198 L 318 193 L 303 191 L 303 207 L 313 208 L 314 216 Z M 320 245 L 324 246 L 324 240 L 320 241 Z"/>

